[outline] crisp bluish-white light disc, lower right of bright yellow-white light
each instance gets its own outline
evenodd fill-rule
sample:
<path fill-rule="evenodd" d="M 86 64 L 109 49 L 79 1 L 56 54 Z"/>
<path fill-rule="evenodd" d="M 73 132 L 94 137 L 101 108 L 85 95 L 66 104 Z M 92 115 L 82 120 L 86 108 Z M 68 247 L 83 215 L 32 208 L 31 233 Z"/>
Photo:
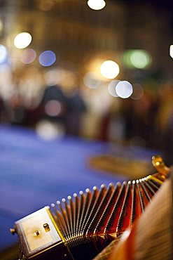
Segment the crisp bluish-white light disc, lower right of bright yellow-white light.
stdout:
<path fill-rule="evenodd" d="M 132 84 L 127 81 L 120 81 L 116 85 L 116 93 L 120 98 L 129 98 L 132 95 Z"/>

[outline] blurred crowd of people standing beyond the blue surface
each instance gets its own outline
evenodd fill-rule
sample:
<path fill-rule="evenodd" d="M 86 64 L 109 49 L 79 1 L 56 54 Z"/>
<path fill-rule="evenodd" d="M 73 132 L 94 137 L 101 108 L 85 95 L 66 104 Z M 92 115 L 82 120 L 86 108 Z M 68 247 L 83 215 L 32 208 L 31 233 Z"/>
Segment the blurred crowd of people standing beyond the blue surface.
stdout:
<path fill-rule="evenodd" d="M 11 94 L 1 88 L 1 123 L 36 129 L 39 122 L 50 122 L 63 134 L 158 149 L 173 161 L 172 81 L 144 86 L 139 98 L 118 98 L 105 84 L 88 89 L 71 81 L 67 88 L 53 81 L 43 84 L 37 71 L 25 76 L 16 72 Z"/>

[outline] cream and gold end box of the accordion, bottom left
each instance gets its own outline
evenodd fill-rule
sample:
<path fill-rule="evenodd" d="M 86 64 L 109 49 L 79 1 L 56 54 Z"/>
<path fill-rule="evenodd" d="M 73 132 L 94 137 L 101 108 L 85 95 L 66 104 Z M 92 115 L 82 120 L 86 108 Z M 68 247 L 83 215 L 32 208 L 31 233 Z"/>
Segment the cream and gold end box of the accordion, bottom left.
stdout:
<path fill-rule="evenodd" d="M 20 257 L 22 259 L 50 259 L 58 251 L 60 260 L 73 259 L 63 236 L 57 228 L 49 207 L 15 222 L 15 232 L 20 240 Z"/>

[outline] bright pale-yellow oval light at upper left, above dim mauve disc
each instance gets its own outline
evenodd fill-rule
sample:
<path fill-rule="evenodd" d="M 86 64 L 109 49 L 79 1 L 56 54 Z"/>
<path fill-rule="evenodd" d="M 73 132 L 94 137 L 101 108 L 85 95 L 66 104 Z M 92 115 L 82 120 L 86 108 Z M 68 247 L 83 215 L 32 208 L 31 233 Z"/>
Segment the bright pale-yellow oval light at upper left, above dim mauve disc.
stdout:
<path fill-rule="evenodd" d="M 16 48 L 26 48 L 32 42 L 32 36 L 29 32 L 21 32 L 14 39 L 14 46 Z"/>

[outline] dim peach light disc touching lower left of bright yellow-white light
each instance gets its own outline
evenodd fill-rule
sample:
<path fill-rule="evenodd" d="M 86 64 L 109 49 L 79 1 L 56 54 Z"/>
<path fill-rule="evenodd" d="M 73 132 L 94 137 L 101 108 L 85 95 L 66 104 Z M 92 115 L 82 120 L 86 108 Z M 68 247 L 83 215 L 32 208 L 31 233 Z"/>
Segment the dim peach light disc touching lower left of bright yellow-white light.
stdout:
<path fill-rule="evenodd" d="M 83 83 L 89 89 L 97 89 L 98 86 L 101 85 L 101 81 L 99 80 L 99 76 L 95 72 L 88 72 L 83 77 Z"/>

